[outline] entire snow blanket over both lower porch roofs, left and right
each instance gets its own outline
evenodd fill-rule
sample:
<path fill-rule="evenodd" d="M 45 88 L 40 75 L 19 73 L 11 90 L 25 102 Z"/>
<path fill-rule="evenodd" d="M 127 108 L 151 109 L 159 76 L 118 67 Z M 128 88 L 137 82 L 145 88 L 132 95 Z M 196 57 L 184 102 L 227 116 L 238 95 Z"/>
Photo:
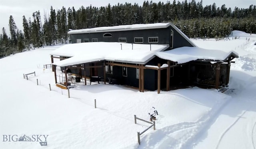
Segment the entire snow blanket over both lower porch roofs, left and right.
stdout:
<path fill-rule="evenodd" d="M 121 50 L 122 46 L 122 50 Z M 164 51 L 166 45 L 128 44 L 120 42 L 86 42 L 78 44 L 67 44 L 50 55 L 71 57 L 53 63 L 57 66 L 72 66 L 102 60 L 114 62 L 126 62 L 134 64 L 146 64 L 155 56 L 164 60 L 170 60 L 183 64 L 194 60 L 224 61 L 229 56 L 238 57 L 234 51 L 224 52 L 221 50 L 206 50 L 198 47 L 181 47 Z"/>

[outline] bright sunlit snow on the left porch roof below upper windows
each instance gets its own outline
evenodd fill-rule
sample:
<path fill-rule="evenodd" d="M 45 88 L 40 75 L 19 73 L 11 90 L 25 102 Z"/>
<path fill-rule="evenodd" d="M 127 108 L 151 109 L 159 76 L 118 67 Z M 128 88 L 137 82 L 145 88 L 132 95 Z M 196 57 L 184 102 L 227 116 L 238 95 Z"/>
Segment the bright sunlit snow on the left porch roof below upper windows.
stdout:
<path fill-rule="evenodd" d="M 61 67 L 101 60 L 145 64 L 148 60 L 154 58 L 155 52 L 164 51 L 168 47 L 166 45 L 152 44 L 150 51 L 150 45 L 148 44 L 132 45 L 120 42 L 86 42 L 67 44 L 54 50 L 50 55 L 71 57 L 53 63 Z"/>

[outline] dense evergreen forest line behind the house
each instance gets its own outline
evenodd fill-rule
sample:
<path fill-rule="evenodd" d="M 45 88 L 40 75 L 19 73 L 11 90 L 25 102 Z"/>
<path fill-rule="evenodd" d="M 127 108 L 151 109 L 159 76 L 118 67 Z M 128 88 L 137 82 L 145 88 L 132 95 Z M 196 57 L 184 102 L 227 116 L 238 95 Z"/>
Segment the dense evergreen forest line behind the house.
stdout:
<path fill-rule="evenodd" d="M 142 6 L 127 2 L 99 8 L 90 5 L 78 10 L 64 6 L 55 10 L 51 6 L 50 12 L 44 12 L 43 21 L 39 11 L 32 13 L 28 20 L 23 16 L 23 31 L 17 29 L 14 18 L 10 16 L 10 36 L 5 28 L 0 34 L 0 57 L 31 47 L 68 43 L 68 30 L 101 26 L 172 22 L 190 38 L 225 37 L 232 30 L 256 33 L 255 5 L 231 10 L 225 4 L 218 8 L 215 3 L 202 4 L 202 0 L 174 0 L 172 3 L 144 1 Z"/>

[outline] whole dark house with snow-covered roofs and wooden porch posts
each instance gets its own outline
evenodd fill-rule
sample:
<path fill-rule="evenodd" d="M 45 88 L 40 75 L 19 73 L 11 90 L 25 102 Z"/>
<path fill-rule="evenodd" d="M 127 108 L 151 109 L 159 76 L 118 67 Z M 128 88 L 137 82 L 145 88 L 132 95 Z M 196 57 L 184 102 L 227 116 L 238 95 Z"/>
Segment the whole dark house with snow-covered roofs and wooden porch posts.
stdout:
<path fill-rule="evenodd" d="M 231 60 L 238 58 L 236 52 L 198 48 L 172 23 L 88 28 L 68 34 L 73 44 L 50 54 L 61 87 L 68 87 L 69 71 L 79 78 L 100 78 L 142 92 L 189 85 L 218 88 L 228 84 Z M 64 83 L 57 80 L 56 66 L 65 70 Z"/>

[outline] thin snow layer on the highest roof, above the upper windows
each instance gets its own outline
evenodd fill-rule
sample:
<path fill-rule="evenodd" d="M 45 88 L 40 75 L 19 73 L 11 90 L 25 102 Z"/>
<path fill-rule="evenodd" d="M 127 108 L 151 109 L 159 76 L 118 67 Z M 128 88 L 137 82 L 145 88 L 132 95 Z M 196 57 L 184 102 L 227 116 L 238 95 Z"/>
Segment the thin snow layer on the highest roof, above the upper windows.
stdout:
<path fill-rule="evenodd" d="M 133 24 L 133 25 L 120 25 L 120 26 L 108 26 L 97 28 L 86 28 L 80 30 L 71 30 L 68 34 L 83 34 L 83 33 L 95 33 L 95 32 L 116 32 L 127 30 L 144 30 L 155 28 L 167 28 L 171 23 L 154 23 L 154 24 Z"/>

